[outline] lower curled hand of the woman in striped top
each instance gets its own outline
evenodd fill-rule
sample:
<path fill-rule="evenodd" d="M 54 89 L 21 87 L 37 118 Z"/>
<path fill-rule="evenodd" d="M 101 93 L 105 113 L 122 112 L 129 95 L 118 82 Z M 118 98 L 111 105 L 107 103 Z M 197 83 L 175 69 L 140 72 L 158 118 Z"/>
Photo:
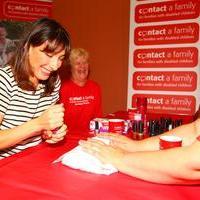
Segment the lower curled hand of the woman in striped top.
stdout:
<path fill-rule="evenodd" d="M 63 124 L 57 130 L 44 130 L 42 137 L 45 139 L 45 142 L 49 144 L 55 144 L 64 139 L 67 133 L 67 125 Z"/>

